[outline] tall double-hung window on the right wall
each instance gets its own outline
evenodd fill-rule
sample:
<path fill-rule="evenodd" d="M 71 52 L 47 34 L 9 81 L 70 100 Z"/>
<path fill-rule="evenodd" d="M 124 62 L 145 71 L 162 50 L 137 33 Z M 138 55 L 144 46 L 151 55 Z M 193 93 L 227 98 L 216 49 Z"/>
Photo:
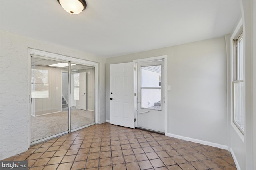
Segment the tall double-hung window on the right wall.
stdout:
<path fill-rule="evenodd" d="M 234 39 L 233 59 L 233 122 L 243 133 L 244 131 L 244 56 L 243 33 Z"/>

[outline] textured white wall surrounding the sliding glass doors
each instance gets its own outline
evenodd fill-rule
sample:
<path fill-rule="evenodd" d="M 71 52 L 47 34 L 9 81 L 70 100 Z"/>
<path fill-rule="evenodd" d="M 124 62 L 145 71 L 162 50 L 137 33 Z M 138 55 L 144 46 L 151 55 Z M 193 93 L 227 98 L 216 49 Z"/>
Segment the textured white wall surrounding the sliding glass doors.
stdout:
<path fill-rule="evenodd" d="M 98 123 L 106 121 L 106 59 L 0 30 L 0 160 L 29 147 L 28 48 L 99 63 Z"/>

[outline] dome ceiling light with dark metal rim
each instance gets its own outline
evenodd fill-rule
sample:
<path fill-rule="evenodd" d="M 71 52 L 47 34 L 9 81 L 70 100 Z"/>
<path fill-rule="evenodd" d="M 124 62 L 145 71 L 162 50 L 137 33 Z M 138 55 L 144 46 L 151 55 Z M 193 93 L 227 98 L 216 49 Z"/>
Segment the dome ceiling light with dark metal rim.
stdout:
<path fill-rule="evenodd" d="M 79 14 L 82 12 L 87 4 L 85 0 L 57 0 L 66 12 L 70 14 Z"/>

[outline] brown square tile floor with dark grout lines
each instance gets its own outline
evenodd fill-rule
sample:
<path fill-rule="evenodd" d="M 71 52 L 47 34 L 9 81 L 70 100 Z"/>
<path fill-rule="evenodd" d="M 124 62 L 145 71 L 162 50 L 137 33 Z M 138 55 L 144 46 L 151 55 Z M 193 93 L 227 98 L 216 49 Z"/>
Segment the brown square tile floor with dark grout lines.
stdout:
<path fill-rule="evenodd" d="M 6 160 L 29 170 L 236 170 L 227 150 L 103 123 L 34 145 Z"/>

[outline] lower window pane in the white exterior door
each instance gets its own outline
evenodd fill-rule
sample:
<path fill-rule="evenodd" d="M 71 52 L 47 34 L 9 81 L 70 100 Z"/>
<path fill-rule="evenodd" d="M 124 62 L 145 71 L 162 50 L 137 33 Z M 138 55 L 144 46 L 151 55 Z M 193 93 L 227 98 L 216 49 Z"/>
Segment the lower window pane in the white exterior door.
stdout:
<path fill-rule="evenodd" d="M 141 107 L 161 110 L 161 89 L 141 89 Z"/>

